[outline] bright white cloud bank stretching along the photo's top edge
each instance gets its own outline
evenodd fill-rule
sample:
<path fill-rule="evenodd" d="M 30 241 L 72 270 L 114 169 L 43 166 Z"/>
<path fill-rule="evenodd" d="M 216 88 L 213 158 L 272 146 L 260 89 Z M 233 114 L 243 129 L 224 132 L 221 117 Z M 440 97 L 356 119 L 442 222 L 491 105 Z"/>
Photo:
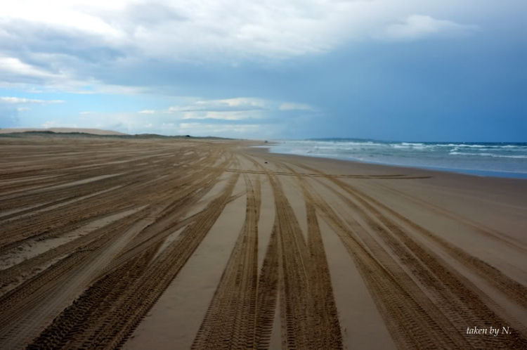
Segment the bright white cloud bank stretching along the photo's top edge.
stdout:
<path fill-rule="evenodd" d="M 213 57 L 235 67 L 238 57 L 325 53 L 409 11 L 453 6 L 457 1 L 4 0 L 0 33 L 13 37 L 11 22 L 31 22 L 89 36 L 98 47 L 176 60 Z"/>

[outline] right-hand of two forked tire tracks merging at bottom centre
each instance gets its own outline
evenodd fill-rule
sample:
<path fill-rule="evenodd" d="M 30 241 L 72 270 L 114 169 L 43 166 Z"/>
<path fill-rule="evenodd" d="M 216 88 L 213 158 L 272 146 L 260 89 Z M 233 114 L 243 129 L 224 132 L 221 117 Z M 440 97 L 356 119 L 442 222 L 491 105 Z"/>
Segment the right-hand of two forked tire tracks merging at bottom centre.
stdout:
<path fill-rule="evenodd" d="M 342 349 L 337 306 L 315 207 L 306 200 L 306 244 L 297 218 L 276 176 L 248 155 L 245 157 L 267 174 L 275 196 L 277 231 L 280 233 L 280 246 L 284 247 L 278 273 L 284 342 L 282 347 Z"/>

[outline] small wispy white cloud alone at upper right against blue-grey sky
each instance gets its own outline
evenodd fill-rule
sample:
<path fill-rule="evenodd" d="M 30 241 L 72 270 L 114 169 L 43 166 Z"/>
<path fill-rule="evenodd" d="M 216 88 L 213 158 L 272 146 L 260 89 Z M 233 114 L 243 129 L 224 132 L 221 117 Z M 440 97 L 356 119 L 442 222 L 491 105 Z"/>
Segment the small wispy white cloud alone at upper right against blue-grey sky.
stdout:
<path fill-rule="evenodd" d="M 415 40 L 432 35 L 464 35 L 478 30 L 476 25 L 461 25 L 450 20 L 437 20 L 429 15 L 410 15 L 400 23 L 384 28 L 381 38 Z"/>

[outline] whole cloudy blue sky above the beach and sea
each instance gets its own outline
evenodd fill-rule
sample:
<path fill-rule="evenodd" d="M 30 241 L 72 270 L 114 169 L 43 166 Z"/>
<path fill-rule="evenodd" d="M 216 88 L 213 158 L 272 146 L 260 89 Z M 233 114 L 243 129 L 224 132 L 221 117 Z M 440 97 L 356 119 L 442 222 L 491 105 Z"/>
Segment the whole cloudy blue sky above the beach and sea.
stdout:
<path fill-rule="evenodd" d="M 2 0 L 0 128 L 527 141 L 525 0 Z"/>

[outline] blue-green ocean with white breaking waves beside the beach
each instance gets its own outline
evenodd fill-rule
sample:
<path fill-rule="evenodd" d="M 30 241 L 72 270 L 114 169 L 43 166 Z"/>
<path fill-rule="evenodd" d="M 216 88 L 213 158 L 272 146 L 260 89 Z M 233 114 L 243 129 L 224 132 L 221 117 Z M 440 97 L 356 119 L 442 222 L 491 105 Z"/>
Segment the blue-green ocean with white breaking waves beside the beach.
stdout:
<path fill-rule="evenodd" d="M 280 140 L 272 153 L 527 179 L 527 143 L 388 142 L 353 138 Z"/>

